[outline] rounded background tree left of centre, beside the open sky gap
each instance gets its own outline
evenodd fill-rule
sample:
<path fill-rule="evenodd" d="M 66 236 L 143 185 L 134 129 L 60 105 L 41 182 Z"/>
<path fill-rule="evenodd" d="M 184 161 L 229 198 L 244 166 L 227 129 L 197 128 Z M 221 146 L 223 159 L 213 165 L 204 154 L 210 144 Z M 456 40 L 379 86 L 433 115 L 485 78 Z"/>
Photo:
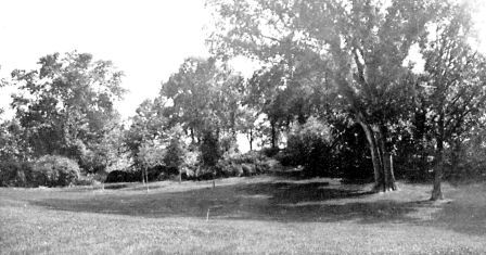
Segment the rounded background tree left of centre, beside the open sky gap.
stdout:
<path fill-rule="evenodd" d="M 199 143 L 208 129 L 217 137 L 234 136 L 242 82 L 240 75 L 213 59 L 186 60 L 161 89 L 161 98 L 172 102 L 166 110 L 170 125 L 180 124 L 193 143 Z"/>

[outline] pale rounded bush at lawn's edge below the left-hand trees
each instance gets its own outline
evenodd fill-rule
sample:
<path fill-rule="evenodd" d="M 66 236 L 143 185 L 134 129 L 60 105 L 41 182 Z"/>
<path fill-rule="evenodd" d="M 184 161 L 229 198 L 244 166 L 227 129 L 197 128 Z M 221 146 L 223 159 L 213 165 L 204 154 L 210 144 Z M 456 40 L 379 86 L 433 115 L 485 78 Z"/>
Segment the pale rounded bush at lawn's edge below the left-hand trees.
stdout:
<path fill-rule="evenodd" d="M 76 183 L 78 178 L 78 164 L 64 156 L 46 155 L 33 165 L 35 186 L 64 187 Z"/>

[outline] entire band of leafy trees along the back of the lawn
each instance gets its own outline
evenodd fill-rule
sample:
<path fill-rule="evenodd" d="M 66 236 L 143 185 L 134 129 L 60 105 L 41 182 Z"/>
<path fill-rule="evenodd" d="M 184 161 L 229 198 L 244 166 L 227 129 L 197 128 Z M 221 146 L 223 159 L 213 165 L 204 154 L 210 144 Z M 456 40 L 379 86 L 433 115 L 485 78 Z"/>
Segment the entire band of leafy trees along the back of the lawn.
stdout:
<path fill-rule="evenodd" d="M 396 178 L 434 179 L 434 200 L 443 178 L 484 176 L 486 62 L 470 44 L 470 7 L 207 5 L 213 56 L 187 59 L 128 125 L 113 107 L 123 74 L 110 62 L 74 52 L 14 71 L 21 92 L 0 129 L 2 162 L 59 155 L 127 181 L 253 175 L 277 160 L 305 176 L 371 179 L 376 191 L 396 189 Z M 260 64 L 251 78 L 228 64 L 239 55 Z M 250 153 L 238 151 L 238 135 Z"/>

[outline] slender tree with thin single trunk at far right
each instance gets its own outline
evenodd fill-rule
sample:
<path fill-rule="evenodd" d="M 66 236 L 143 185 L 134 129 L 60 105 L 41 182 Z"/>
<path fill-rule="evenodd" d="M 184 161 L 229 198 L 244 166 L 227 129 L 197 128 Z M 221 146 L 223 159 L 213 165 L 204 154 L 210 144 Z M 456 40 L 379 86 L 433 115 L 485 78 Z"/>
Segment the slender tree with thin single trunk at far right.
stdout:
<path fill-rule="evenodd" d="M 468 43 L 471 11 L 468 5 L 445 4 L 434 37 L 422 48 L 425 73 L 419 95 L 426 109 L 425 124 L 435 142 L 434 189 L 431 200 L 442 200 L 444 150 L 457 151 L 464 135 L 477 126 L 486 103 L 486 59 Z"/>

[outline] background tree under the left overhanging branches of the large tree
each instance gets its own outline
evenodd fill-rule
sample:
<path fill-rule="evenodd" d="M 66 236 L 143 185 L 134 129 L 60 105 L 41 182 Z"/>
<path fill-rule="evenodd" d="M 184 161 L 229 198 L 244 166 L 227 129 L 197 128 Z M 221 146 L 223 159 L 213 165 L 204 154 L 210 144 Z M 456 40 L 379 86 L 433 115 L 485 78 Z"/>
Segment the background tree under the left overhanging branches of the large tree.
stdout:
<path fill-rule="evenodd" d="M 309 59 L 303 64 L 302 58 Z M 245 89 L 245 103 L 264 114 L 270 124 L 271 148 L 278 146 L 280 131 L 289 131 L 294 122 L 303 125 L 312 115 L 329 111 L 333 90 L 322 73 L 322 61 L 311 52 L 297 52 L 290 60 L 255 72 Z"/>

